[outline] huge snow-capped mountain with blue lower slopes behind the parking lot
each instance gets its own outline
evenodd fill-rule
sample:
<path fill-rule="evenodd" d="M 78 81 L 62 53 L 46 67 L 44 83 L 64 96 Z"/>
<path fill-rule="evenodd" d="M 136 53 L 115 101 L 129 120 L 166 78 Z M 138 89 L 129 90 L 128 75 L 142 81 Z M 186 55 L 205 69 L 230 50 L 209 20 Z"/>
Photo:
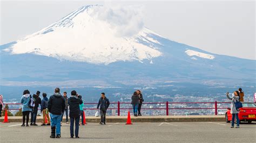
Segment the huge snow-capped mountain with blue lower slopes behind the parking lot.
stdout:
<path fill-rule="evenodd" d="M 128 19 L 122 17 L 131 13 Z M 255 60 L 164 38 L 134 11 L 79 8 L 0 46 L 1 85 L 127 85 L 170 82 L 255 86 Z M 136 27 L 136 28 L 134 28 Z"/>

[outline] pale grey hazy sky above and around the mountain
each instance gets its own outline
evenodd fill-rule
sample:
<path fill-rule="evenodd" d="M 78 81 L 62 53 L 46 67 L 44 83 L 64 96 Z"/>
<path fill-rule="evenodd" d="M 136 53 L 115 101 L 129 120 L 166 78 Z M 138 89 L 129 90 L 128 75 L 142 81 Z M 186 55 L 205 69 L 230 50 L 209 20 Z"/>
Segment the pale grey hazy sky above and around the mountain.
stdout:
<path fill-rule="evenodd" d="M 255 1 L 0 1 L 0 4 L 0 45 L 39 31 L 83 5 L 134 5 L 143 11 L 144 26 L 170 40 L 216 54 L 256 60 Z"/>

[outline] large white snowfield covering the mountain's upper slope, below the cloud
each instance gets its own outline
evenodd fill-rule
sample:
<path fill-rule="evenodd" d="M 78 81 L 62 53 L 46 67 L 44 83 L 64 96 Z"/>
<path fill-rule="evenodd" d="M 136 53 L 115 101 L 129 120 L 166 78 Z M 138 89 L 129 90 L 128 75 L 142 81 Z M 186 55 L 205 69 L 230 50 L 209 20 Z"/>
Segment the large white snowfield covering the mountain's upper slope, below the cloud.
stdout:
<path fill-rule="evenodd" d="M 151 61 L 162 54 L 157 47 L 160 42 L 149 36 L 154 32 L 142 27 L 137 34 L 118 36 L 117 27 L 100 17 L 102 8 L 83 6 L 4 51 L 105 65 L 116 61 Z M 116 14 L 113 11 L 112 15 Z M 141 40 L 147 44 L 140 43 Z"/>

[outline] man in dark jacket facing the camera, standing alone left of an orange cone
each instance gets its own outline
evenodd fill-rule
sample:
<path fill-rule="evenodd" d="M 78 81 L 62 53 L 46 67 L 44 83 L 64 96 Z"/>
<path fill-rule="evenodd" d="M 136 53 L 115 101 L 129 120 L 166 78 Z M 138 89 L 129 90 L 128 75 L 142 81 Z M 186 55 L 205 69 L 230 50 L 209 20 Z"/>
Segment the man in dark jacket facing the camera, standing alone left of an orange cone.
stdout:
<path fill-rule="evenodd" d="M 106 110 L 109 108 L 109 99 L 106 98 L 105 93 L 102 92 L 102 97 L 99 98 L 97 109 L 100 107 L 100 123 L 101 125 L 106 125 Z"/>

